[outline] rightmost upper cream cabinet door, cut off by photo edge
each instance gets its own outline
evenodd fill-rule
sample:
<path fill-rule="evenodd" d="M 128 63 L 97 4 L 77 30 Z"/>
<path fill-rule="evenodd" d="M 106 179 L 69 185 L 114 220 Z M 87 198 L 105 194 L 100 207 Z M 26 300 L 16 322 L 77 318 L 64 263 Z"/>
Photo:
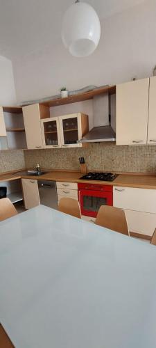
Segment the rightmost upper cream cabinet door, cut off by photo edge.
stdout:
<path fill-rule="evenodd" d="M 156 77 L 150 77 L 148 144 L 156 145 Z"/>

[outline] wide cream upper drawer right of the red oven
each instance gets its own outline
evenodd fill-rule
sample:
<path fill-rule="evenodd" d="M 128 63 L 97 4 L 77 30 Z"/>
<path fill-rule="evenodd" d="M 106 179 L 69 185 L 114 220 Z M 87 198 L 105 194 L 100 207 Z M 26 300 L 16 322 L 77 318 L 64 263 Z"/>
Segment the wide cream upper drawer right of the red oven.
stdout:
<path fill-rule="evenodd" d="M 122 209 L 156 214 L 156 190 L 114 187 L 113 205 Z"/>

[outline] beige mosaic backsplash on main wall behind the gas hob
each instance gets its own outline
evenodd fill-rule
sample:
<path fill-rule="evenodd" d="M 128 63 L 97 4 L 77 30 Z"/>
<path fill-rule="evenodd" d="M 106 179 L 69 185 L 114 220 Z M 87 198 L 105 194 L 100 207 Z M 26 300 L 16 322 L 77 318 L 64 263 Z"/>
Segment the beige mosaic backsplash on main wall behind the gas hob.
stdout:
<path fill-rule="evenodd" d="M 24 151 L 27 168 L 37 163 L 42 168 L 79 170 L 83 156 L 90 171 L 156 172 L 156 146 L 116 146 L 112 143 L 90 143 L 87 148 Z"/>

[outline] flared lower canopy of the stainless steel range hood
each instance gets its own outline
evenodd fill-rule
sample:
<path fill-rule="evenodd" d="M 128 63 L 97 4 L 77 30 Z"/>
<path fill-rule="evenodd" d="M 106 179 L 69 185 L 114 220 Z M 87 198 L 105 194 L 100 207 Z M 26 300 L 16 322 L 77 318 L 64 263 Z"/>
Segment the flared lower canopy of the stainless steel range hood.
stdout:
<path fill-rule="evenodd" d="M 116 141 L 116 135 L 111 126 L 94 127 L 83 136 L 80 143 L 100 143 L 102 141 Z"/>

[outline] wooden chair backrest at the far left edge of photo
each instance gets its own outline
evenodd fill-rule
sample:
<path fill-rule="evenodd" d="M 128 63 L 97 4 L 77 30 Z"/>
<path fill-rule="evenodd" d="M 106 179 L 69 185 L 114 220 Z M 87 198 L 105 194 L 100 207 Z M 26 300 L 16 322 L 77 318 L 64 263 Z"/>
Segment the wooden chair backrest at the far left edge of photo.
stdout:
<path fill-rule="evenodd" d="M 17 215 L 17 210 L 8 198 L 0 199 L 0 221 L 8 219 L 11 216 Z"/>

